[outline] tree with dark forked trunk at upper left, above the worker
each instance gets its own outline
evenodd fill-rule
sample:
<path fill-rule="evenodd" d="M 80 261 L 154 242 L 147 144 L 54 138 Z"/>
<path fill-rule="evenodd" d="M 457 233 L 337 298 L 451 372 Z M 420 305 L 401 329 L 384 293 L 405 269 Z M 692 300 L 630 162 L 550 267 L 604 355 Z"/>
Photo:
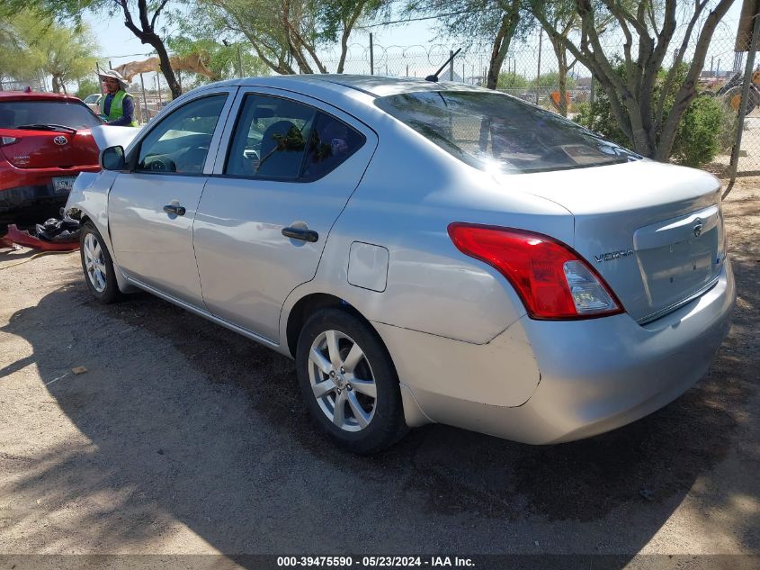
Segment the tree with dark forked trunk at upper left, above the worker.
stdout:
<path fill-rule="evenodd" d="M 76 27 L 81 25 L 82 14 L 85 10 L 94 13 L 103 11 L 109 15 L 121 14 L 124 25 L 134 33 L 142 43 L 150 45 L 161 62 L 161 72 L 166 84 L 172 92 L 172 97 L 182 95 L 174 70 L 169 63 L 163 38 L 156 32 L 158 18 L 164 14 L 169 0 L 156 0 L 148 4 L 148 0 L 3 0 L 0 15 L 7 16 L 28 8 L 43 17 L 56 18 L 58 21 L 74 21 Z"/>

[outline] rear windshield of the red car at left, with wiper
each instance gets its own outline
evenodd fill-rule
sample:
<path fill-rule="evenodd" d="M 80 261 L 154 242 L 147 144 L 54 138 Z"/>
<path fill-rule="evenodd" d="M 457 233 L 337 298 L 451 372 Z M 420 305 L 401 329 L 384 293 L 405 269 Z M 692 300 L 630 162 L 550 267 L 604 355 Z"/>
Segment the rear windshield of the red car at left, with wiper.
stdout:
<path fill-rule="evenodd" d="M 0 102 L 0 129 L 30 124 L 62 124 L 72 129 L 94 127 L 103 122 L 85 104 L 68 101 Z"/>

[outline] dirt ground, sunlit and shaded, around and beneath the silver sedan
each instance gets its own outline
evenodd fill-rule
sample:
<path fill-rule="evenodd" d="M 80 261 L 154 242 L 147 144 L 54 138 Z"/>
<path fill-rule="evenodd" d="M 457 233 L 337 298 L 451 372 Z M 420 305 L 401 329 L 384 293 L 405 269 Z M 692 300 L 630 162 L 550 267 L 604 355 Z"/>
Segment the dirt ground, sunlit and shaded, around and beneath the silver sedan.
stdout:
<path fill-rule="evenodd" d="M 315 432 L 290 360 L 148 294 L 95 303 L 76 252 L 0 250 L 0 555 L 760 554 L 760 179 L 725 212 L 734 324 L 675 403 L 370 458 Z"/>

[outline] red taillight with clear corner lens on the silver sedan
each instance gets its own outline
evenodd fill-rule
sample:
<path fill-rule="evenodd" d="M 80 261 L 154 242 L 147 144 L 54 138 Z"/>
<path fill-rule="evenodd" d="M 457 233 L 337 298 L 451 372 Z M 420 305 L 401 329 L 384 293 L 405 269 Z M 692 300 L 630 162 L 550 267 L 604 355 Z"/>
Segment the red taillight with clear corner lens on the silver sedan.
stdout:
<path fill-rule="evenodd" d="M 623 312 L 604 279 L 558 240 L 461 222 L 449 225 L 449 236 L 463 254 L 505 276 L 532 319 L 587 319 Z"/>

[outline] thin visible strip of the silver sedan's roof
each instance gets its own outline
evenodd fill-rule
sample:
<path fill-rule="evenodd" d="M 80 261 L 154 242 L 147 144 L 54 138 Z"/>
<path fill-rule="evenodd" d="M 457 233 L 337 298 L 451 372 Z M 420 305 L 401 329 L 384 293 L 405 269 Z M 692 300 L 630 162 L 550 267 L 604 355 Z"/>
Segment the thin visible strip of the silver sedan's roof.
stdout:
<path fill-rule="evenodd" d="M 245 77 L 223 81 L 219 85 L 227 86 L 273 86 L 288 89 L 308 88 L 319 84 L 333 84 L 346 89 L 355 89 L 367 95 L 383 97 L 416 91 L 487 91 L 478 86 L 446 81 L 425 81 L 416 77 L 358 76 L 344 74 L 306 74 L 271 77 Z"/>

